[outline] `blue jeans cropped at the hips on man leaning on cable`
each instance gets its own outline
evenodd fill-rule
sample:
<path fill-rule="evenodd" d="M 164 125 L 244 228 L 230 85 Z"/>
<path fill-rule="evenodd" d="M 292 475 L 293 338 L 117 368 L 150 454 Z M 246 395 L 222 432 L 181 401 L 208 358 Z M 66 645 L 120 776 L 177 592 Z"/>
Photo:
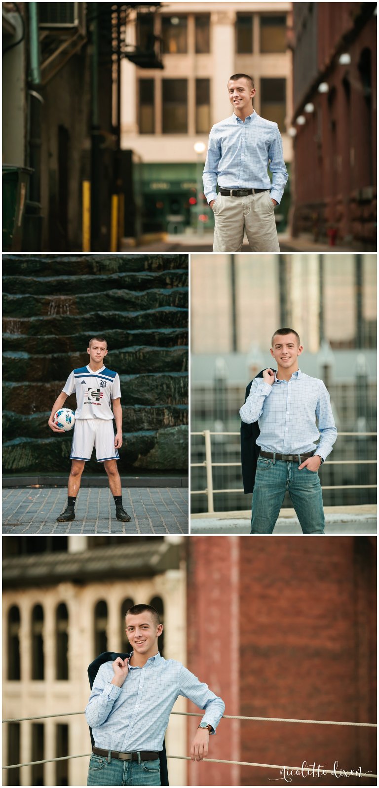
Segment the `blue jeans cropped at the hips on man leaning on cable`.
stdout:
<path fill-rule="evenodd" d="M 157 760 L 119 760 L 91 755 L 87 786 L 160 786 Z"/>

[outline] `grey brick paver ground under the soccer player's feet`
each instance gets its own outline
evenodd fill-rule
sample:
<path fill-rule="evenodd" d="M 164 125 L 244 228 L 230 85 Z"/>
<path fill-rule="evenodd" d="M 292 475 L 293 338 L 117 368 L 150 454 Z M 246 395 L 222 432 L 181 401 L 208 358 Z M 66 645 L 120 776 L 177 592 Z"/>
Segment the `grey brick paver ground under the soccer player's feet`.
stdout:
<path fill-rule="evenodd" d="M 188 533 L 187 488 L 133 487 L 123 489 L 122 501 L 131 522 L 116 519 L 109 488 L 83 488 L 76 501 L 76 519 L 56 522 L 67 505 L 66 489 L 4 489 L 2 533 Z"/>

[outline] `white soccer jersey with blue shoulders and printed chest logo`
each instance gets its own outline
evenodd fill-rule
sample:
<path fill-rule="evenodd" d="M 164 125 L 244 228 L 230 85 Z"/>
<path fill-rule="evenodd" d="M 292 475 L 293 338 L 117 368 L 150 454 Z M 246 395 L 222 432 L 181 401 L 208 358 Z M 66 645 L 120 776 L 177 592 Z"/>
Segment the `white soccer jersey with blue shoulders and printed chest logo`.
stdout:
<path fill-rule="evenodd" d="M 75 418 L 113 418 L 110 407 L 112 400 L 121 397 L 120 378 L 117 372 L 102 366 L 93 372 L 90 366 L 80 366 L 72 370 L 65 388 L 65 394 L 76 392 Z"/>

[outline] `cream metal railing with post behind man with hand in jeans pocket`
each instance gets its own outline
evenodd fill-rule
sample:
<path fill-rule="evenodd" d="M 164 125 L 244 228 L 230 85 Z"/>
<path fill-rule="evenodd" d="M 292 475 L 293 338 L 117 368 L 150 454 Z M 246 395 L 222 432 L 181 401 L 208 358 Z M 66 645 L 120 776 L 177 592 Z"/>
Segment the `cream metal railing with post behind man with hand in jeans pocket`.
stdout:
<path fill-rule="evenodd" d="M 211 436 L 216 435 L 217 437 L 221 435 L 226 436 L 238 436 L 240 437 L 240 433 L 219 433 L 219 432 L 211 432 L 210 429 L 204 429 L 203 432 L 194 432 L 191 433 L 191 436 L 203 436 L 204 443 L 205 443 L 205 459 L 202 463 L 191 463 L 191 468 L 205 468 L 206 469 L 206 487 L 202 490 L 193 490 L 191 489 L 191 495 L 206 495 L 207 504 L 208 504 L 208 514 L 214 514 L 214 495 L 219 492 L 230 493 L 230 492 L 243 492 L 242 487 L 237 488 L 226 488 L 226 489 L 214 489 L 214 479 L 212 468 L 217 467 L 240 467 L 241 463 L 213 463 L 212 462 L 212 442 Z M 344 436 L 354 436 L 354 437 L 373 437 L 377 436 L 377 433 L 338 433 L 338 437 Z M 376 465 L 376 459 L 328 459 L 328 465 Z M 323 490 L 347 490 L 347 489 L 376 489 L 377 485 L 321 485 Z"/>

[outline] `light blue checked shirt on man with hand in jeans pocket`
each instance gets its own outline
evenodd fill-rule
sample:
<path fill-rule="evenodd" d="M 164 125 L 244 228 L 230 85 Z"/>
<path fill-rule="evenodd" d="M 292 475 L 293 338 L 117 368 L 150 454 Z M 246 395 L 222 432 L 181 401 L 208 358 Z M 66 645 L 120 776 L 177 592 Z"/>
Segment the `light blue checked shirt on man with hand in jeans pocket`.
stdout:
<path fill-rule="evenodd" d="M 289 381 L 278 381 L 275 375 L 273 385 L 255 377 L 240 408 L 240 417 L 246 424 L 258 421 L 261 433 L 257 444 L 264 452 L 314 452 L 321 436 L 314 453 L 326 459 L 337 437 L 325 384 L 301 370 L 294 372 Z"/>

